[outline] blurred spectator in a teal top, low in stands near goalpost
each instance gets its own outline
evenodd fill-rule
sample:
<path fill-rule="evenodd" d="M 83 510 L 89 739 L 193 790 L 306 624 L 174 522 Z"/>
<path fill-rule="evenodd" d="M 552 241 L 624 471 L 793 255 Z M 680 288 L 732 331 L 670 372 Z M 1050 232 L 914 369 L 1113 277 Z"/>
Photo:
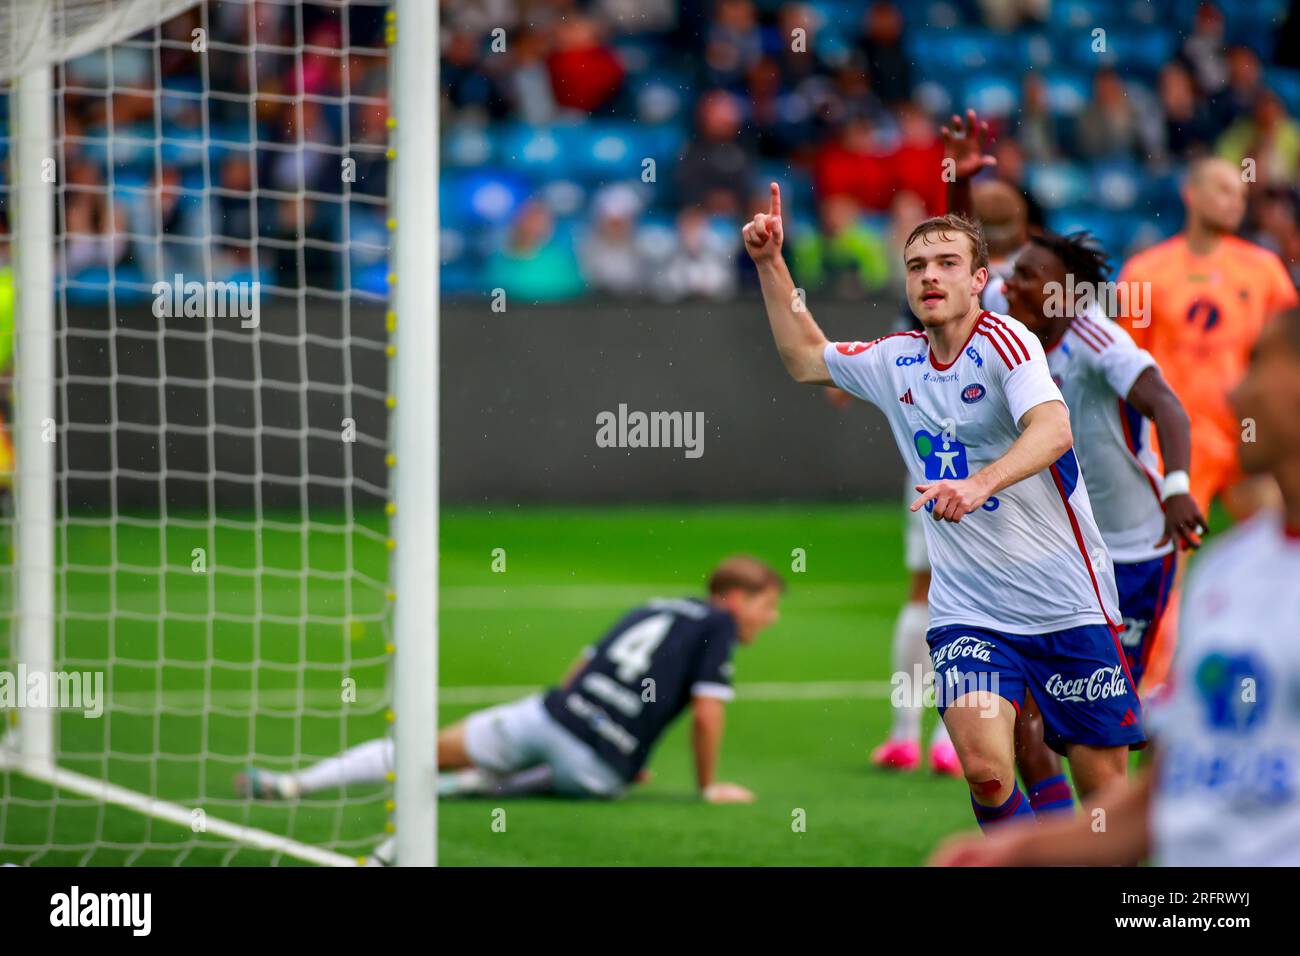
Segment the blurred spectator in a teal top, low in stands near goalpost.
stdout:
<path fill-rule="evenodd" d="M 520 207 L 504 246 L 488 258 L 484 284 L 525 302 L 555 302 L 582 291 L 573 250 L 556 237 L 543 203 L 530 199 Z"/>

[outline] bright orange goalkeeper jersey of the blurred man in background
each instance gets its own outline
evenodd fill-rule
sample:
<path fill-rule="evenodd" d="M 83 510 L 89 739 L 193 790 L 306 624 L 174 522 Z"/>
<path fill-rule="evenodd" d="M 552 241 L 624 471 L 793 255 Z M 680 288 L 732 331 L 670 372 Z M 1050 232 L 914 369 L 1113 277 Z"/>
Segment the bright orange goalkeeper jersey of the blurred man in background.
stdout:
<path fill-rule="evenodd" d="M 1126 323 L 1149 351 L 1192 419 L 1239 434 L 1227 393 L 1245 372 L 1264 323 L 1296 304 L 1296 289 L 1277 255 L 1235 235 L 1209 255 L 1195 255 L 1187 239 L 1171 239 L 1128 260 L 1121 282 L 1150 282 L 1141 319 Z M 1130 293 L 1131 294 L 1131 293 Z"/>

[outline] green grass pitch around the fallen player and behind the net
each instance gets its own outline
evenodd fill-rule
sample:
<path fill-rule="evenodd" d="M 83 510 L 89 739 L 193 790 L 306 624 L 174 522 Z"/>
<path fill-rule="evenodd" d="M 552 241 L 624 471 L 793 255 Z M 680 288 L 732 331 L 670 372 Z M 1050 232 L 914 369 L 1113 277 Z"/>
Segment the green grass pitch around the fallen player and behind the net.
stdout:
<path fill-rule="evenodd" d="M 208 541 L 207 575 L 190 570 L 190 545 L 208 536 L 202 524 L 70 528 L 64 546 L 77 571 L 60 589 L 73 611 L 61 666 L 112 659 L 113 705 L 100 721 L 61 715 L 61 765 L 347 855 L 373 847 L 389 818 L 385 787 L 292 806 L 250 805 L 230 791 L 248 753 L 273 767 L 300 766 L 385 731 L 384 516 L 360 524 L 347 532 L 313 515 L 311 531 L 287 518 L 260 536 L 222 527 Z M 754 790 L 755 804 L 694 799 L 689 721 L 681 721 L 659 743 L 654 779 L 623 800 L 443 803 L 441 862 L 923 862 L 972 819 L 961 782 L 867 765 L 889 722 L 879 688 L 889 679 L 889 635 L 906 587 L 901 525 L 893 502 L 446 511 L 443 723 L 556 680 L 632 605 L 699 593 L 724 554 L 753 553 L 789 572 L 792 551 L 803 549 L 806 571 L 788 574 L 781 620 L 736 656 L 740 696 L 728 708 L 720 778 Z M 351 580 L 335 576 L 350 544 L 360 572 Z M 503 572 L 493 571 L 494 549 L 504 549 Z M 282 574 L 263 575 L 260 587 L 239 574 L 259 562 Z M 302 575 L 308 566 L 313 574 Z M 10 602 L 12 581 L 4 584 Z M 218 624 L 204 620 L 213 607 Z M 0 661 L 13 659 L 10 641 L 6 628 Z M 348 676 L 358 701 L 343 706 L 338 688 Z M 0 774 L 0 861 L 34 864 L 272 861 L 66 792 L 51 801 L 48 787 L 14 773 Z"/>

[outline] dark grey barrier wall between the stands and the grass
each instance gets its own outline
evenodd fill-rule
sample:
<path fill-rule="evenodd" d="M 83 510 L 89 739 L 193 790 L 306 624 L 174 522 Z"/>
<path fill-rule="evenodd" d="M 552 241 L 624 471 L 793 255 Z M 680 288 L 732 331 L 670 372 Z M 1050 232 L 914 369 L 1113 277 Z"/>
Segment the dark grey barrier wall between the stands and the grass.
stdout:
<path fill-rule="evenodd" d="M 814 308 L 841 339 L 881 334 L 894 313 L 888 303 Z M 231 509 L 381 499 L 384 313 L 326 300 L 304 315 L 302 337 L 294 306 L 264 306 L 259 333 L 237 319 L 207 329 L 159 320 L 147 304 L 112 319 L 72 310 L 60 347 L 72 373 L 60 398 L 69 503 L 104 507 L 114 492 L 118 509 L 162 496 L 169 507 L 207 507 L 212 496 Z M 679 412 L 703 416 L 703 441 L 679 427 L 693 450 L 602 447 L 602 423 L 618 440 L 620 405 L 624 434 L 632 412 Z M 344 418 L 355 442 L 342 440 Z M 901 493 L 901 476 L 878 411 L 838 411 L 786 377 L 757 294 L 727 306 L 493 312 L 485 298 L 443 310 L 445 502 L 883 497 Z"/>

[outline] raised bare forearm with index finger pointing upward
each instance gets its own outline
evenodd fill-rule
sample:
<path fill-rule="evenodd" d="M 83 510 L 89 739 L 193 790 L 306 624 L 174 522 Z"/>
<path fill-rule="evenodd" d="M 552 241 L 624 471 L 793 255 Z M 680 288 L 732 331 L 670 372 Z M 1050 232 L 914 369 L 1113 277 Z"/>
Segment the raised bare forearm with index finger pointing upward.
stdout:
<path fill-rule="evenodd" d="M 823 350 L 827 339 L 812 320 L 802 295 L 794 289 L 794 280 L 781 256 L 785 238 L 781 220 L 781 187 L 772 183 L 772 198 L 767 212 L 760 212 L 741 230 L 745 251 L 758 267 L 758 281 L 763 289 L 763 306 L 772 325 L 776 351 L 785 363 L 785 371 L 797 382 L 831 385 L 831 372 L 826 367 Z"/>

